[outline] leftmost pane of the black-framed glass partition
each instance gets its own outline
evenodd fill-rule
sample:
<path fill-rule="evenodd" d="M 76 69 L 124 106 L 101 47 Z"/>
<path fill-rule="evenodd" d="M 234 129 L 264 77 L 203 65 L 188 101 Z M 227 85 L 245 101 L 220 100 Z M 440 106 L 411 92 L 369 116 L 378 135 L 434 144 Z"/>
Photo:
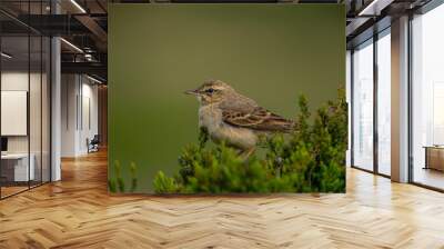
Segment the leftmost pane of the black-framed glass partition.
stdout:
<path fill-rule="evenodd" d="M 29 37 L 1 38 L 1 197 L 29 188 Z M 31 163 L 31 167 L 30 167 Z"/>

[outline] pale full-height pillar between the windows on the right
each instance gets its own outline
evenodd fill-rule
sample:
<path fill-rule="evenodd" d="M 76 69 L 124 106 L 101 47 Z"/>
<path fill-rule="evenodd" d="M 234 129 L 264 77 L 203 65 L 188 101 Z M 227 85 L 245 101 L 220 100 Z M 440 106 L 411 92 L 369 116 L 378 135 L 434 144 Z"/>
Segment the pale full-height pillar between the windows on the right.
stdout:
<path fill-rule="evenodd" d="M 408 17 L 392 21 L 392 180 L 408 181 Z"/>

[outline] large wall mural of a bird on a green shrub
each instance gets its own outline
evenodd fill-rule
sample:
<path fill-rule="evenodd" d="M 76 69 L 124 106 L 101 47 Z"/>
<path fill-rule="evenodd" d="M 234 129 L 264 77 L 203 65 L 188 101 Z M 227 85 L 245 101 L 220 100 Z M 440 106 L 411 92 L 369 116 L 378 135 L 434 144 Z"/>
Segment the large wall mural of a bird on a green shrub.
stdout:
<path fill-rule="evenodd" d="M 344 22 L 341 4 L 110 4 L 110 192 L 344 192 Z"/>

